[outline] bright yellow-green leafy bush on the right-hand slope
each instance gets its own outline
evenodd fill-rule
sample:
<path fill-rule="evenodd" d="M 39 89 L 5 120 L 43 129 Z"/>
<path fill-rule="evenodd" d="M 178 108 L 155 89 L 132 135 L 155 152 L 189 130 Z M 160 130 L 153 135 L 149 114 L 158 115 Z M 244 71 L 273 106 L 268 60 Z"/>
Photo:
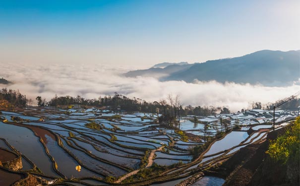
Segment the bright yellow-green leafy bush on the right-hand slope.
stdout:
<path fill-rule="evenodd" d="M 286 164 L 288 161 L 300 161 L 300 117 L 298 117 L 291 128 L 285 134 L 270 140 L 269 148 L 266 151 L 275 162 Z"/>

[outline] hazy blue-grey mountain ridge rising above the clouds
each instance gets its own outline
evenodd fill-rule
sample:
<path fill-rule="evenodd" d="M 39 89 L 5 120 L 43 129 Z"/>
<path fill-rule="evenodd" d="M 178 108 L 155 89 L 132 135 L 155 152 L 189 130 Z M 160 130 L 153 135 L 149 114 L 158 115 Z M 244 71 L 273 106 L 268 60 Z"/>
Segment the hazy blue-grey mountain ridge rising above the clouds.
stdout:
<path fill-rule="evenodd" d="M 210 81 L 288 86 L 300 79 L 300 50 L 263 50 L 237 58 L 194 64 L 172 64 L 164 68 L 129 71 L 125 76 L 154 76 L 161 81 Z"/>

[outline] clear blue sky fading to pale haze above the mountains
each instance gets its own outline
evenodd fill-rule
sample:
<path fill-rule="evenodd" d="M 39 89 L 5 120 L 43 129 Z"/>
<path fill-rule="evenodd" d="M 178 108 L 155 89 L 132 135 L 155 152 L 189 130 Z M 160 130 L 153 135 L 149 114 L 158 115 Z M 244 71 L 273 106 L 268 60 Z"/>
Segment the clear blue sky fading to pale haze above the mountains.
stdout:
<path fill-rule="evenodd" d="M 151 66 L 300 49 L 300 0 L 0 0 L 0 62 Z"/>

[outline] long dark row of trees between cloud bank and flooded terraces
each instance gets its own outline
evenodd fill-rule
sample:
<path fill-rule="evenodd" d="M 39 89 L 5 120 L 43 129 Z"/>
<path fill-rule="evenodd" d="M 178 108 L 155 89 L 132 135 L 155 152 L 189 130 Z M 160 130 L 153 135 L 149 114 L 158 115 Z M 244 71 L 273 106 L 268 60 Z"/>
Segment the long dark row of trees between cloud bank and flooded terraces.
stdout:
<path fill-rule="evenodd" d="M 209 116 L 217 113 L 229 114 L 230 110 L 226 107 L 182 107 L 180 104 L 180 97 L 178 95 L 168 95 L 167 99 L 162 99 L 159 102 L 147 102 L 139 98 L 128 98 L 115 92 L 114 96 L 99 97 L 98 99 L 85 99 L 80 96 L 60 96 L 57 95 L 49 102 L 38 96 L 36 98 L 38 106 L 59 106 L 59 105 L 86 105 L 94 107 L 110 106 L 112 109 L 120 107 L 124 111 L 140 111 L 149 113 L 158 113 L 164 115 L 163 122 L 174 121 L 180 118 L 180 116 L 194 115 L 194 116 Z"/>

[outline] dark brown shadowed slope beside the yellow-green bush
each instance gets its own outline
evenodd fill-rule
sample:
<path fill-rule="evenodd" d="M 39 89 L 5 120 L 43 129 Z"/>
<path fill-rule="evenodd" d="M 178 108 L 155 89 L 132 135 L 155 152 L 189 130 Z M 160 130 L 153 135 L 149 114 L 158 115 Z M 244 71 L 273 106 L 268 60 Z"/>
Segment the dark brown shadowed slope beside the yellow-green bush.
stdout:
<path fill-rule="evenodd" d="M 287 127 L 271 131 L 265 140 L 241 148 L 223 164 L 205 171 L 205 175 L 226 178 L 223 186 L 299 186 L 299 175 L 295 179 L 299 170 L 293 172 L 288 169 L 292 167 L 289 164 L 274 163 L 265 153 L 269 140 L 283 134 Z"/>

